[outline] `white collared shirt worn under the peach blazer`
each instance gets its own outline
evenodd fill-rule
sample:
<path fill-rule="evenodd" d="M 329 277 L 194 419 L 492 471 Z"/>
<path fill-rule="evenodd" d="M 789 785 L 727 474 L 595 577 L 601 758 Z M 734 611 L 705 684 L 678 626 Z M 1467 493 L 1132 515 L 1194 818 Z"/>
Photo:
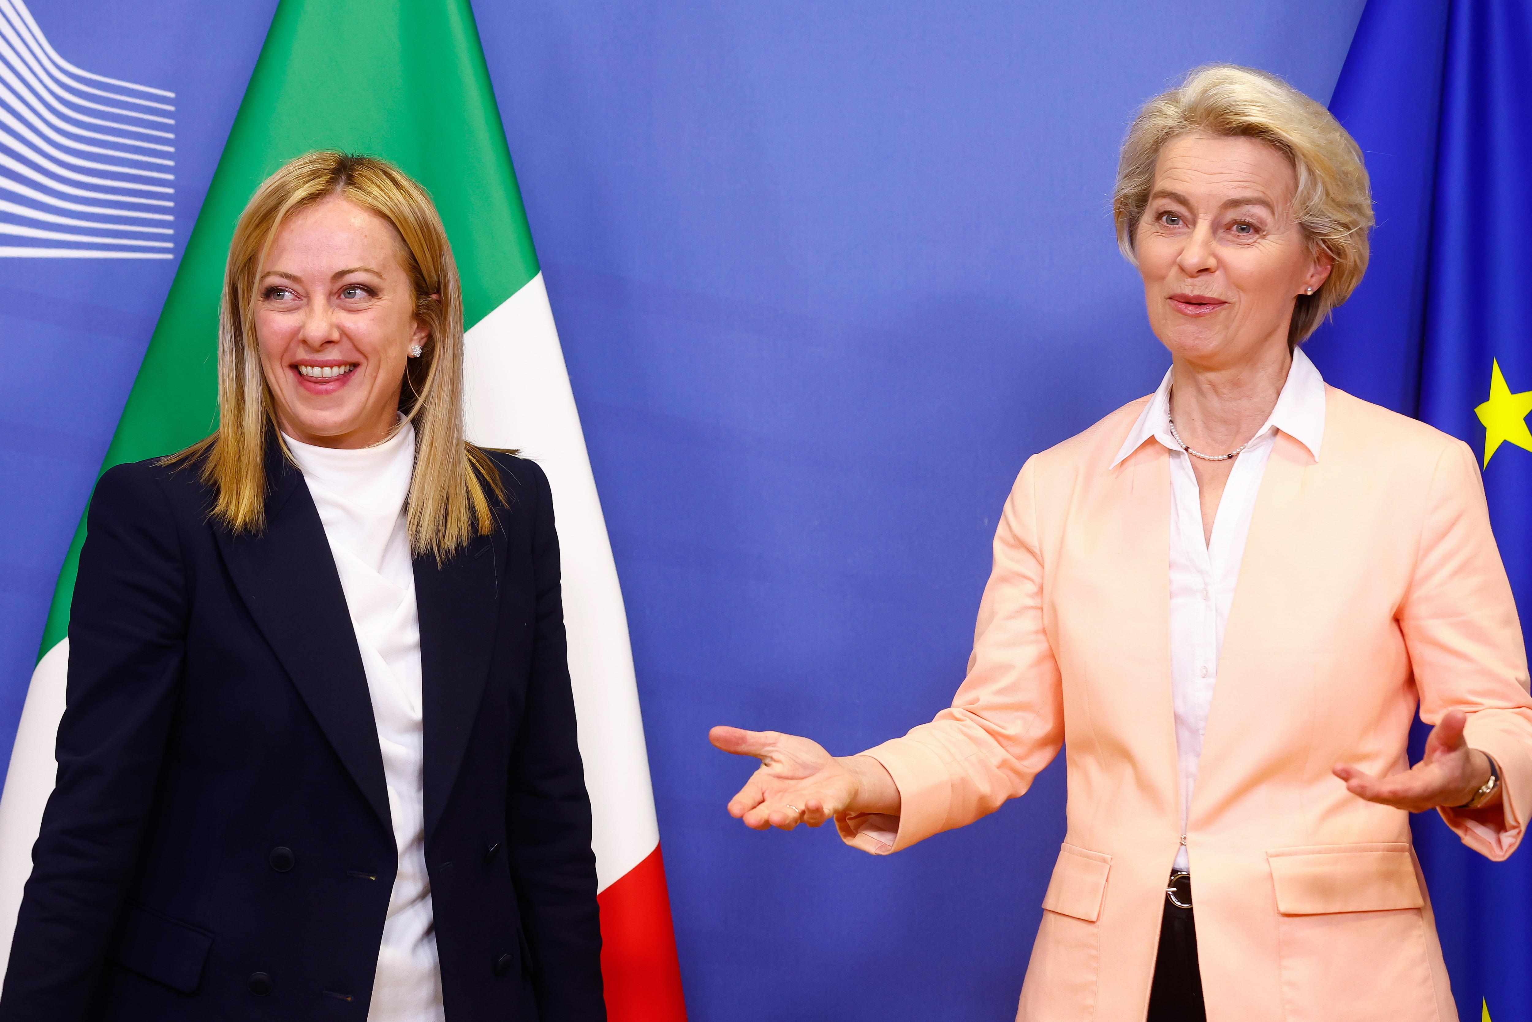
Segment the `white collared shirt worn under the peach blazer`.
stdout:
<path fill-rule="evenodd" d="M 1175 703 L 1175 748 L 1181 772 L 1181 847 L 1175 855 L 1175 869 L 1189 870 L 1186 823 L 1255 498 L 1278 431 L 1308 447 L 1314 461 L 1319 460 L 1319 444 L 1325 434 L 1325 382 L 1308 355 L 1301 348 L 1295 349 L 1293 368 L 1288 369 L 1272 415 L 1235 458 L 1218 501 L 1212 538 L 1204 541 L 1203 506 L 1192 455 L 1170 435 L 1172 374 L 1174 371 L 1164 374 L 1160 389 L 1128 432 L 1112 467 L 1151 437 L 1170 452 L 1170 697 Z"/>

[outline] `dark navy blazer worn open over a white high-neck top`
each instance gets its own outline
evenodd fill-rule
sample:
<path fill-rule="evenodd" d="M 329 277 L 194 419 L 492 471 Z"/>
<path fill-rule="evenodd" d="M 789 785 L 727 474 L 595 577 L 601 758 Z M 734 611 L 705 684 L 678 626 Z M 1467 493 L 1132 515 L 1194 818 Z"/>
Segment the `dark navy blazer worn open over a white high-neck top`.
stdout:
<path fill-rule="evenodd" d="M 492 457 L 496 532 L 415 559 L 446 1014 L 604 1020 L 548 483 Z M 196 475 L 97 484 L 3 1022 L 368 1016 L 397 852 L 340 576 L 274 447 L 259 536 Z"/>

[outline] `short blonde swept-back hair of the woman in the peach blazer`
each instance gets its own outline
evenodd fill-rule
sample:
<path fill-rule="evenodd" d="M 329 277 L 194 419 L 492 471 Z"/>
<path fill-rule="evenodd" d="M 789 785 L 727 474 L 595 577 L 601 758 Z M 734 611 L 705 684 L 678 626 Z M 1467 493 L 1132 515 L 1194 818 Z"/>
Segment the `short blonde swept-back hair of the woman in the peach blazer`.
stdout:
<path fill-rule="evenodd" d="M 1288 345 L 1301 343 L 1351 297 L 1367 271 L 1373 195 L 1360 147 L 1330 110 L 1276 75 L 1236 64 L 1198 67 L 1178 87 L 1149 100 L 1123 141 L 1112 219 L 1117 244 L 1134 265 L 1160 150 L 1183 135 L 1255 138 L 1291 162 L 1298 178 L 1293 219 L 1310 250 L 1333 260 L 1325 282 L 1298 296 L 1293 306 Z"/>

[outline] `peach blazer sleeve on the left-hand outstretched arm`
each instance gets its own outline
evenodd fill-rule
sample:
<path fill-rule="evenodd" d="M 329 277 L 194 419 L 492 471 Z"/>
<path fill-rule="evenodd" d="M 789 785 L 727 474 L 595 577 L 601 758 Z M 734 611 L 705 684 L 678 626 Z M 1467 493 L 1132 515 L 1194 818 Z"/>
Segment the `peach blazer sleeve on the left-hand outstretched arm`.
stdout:
<path fill-rule="evenodd" d="M 1028 460 L 994 533 L 968 676 L 931 723 L 869 749 L 899 788 L 899 815 L 836 820 L 852 846 L 887 855 L 961 827 L 1031 788 L 1063 745 L 1063 686 L 1043 627 L 1037 458 Z"/>

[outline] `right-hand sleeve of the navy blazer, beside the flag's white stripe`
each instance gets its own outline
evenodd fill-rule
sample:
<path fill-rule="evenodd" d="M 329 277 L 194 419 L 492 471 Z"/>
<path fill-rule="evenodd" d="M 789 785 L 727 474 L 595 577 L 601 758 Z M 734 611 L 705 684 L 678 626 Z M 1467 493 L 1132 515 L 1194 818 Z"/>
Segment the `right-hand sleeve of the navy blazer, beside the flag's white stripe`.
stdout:
<path fill-rule="evenodd" d="M 596 857 L 564 639 L 553 498 L 547 477 L 533 463 L 519 463 L 516 473 L 532 480 L 524 495 L 535 516 L 538 591 L 532 677 L 510 752 L 507 850 L 532 955 L 538 1016 L 605 1022 Z"/>

